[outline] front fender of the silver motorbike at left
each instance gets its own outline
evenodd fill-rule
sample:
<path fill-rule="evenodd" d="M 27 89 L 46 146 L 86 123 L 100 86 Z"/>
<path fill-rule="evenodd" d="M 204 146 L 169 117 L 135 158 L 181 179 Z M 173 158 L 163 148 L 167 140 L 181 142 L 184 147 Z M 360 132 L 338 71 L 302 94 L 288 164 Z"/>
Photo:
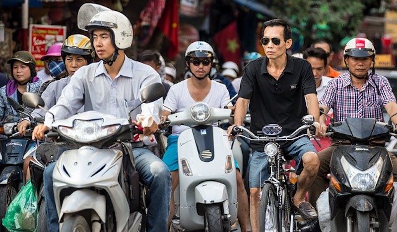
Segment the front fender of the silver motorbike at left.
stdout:
<path fill-rule="evenodd" d="M 65 197 L 59 222 L 63 222 L 65 214 L 76 213 L 82 210 L 94 210 L 102 222 L 106 219 L 106 198 L 104 195 L 98 194 L 92 190 L 79 189 Z"/>

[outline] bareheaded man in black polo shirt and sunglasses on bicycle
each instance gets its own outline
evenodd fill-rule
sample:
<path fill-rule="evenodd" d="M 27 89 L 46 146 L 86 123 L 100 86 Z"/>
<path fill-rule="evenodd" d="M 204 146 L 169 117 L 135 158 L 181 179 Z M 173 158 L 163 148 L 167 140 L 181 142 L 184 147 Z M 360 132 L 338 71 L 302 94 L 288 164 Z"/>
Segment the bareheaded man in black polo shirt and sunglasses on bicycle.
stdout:
<path fill-rule="evenodd" d="M 251 61 L 245 68 L 234 113 L 235 125 L 243 123 L 249 106 L 253 133 L 262 130 L 266 124 L 276 123 L 283 128 L 281 135 L 288 135 L 302 124 L 301 118 L 309 113 L 314 116 L 316 134 L 320 135 L 319 103 L 312 68 L 306 60 L 286 53 L 292 45 L 290 26 L 281 19 L 272 19 L 264 23 L 262 35 L 265 57 Z M 228 129 L 229 135 L 233 126 Z M 253 154 L 249 162 L 249 182 L 253 232 L 259 231 L 260 178 L 269 177 L 264 146 L 264 143 L 251 142 Z M 316 209 L 304 199 L 319 169 L 316 149 L 307 136 L 280 143 L 280 146 L 284 154 L 293 157 L 297 163 L 299 179 L 292 207 L 305 219 L 316 219 Z"/>

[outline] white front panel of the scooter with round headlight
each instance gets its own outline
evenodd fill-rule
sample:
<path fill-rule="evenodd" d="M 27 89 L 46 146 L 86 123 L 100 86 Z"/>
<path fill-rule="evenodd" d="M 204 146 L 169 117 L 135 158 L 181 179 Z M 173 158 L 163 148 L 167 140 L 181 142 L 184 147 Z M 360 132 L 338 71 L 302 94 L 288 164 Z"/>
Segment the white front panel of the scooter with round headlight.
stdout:
<path fill-rule="evenodd" d="M 208 130 L 196 131 L 207 133 L 206 135 L 208 135 Z M 202 141 L 209 142 L 211 140 L 207 138 L 202 139 Z M 197 212 L 195 189 L 200 183 L 208 180 L 216 181 L 226 186 L 231 222 L 234 223 L 237 218 L 237 182 L 234 161 L 232 162 L 232 171 L 230 173 L 225 172 L 227 156 L 231 156 L 232 160 L 234 160 L 230 149 L 231 144 L 225 131 L 218 127 L 212 128 L 211 143 L 214 152 L 213 159 L 209 162 L 204 162 L 202 157 L 200 157 L 199 145 L 196 143 L 192 128 L 184 130 L 178 139 L 180 223 L 186 230 L 203 229 L 203 216 L 199 216 Z M 208 147 L 211 147 L 211 145 L 206 146 L 205 143 L 200 145 L 201 149 Z M 191 176 L 183 173 L 181 159 L 185 159 L 189 164 L 192 172 Z"/>

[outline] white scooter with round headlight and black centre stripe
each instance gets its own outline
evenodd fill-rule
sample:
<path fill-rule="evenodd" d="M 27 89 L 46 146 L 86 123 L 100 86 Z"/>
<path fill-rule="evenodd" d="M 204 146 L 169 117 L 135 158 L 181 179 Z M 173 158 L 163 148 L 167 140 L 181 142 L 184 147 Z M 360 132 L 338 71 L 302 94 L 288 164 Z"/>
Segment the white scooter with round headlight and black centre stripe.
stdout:
<path fill-rule="evenodd" d="M 236 168 L 225 130 L 213 123 L 231 110 L 198 102 L 168 116 L 170 125 L 187 125 L 178 138 L 180 231 L 229 232 L 237 218 Z M 177 209 L 178 211 L 178 209 Z"/>

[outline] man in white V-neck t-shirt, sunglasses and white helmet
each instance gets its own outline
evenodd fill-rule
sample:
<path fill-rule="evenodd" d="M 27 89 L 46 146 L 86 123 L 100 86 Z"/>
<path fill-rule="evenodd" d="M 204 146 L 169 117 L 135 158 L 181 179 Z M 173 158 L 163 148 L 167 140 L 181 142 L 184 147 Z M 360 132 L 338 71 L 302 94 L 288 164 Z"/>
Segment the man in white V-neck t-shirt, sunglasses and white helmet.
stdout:
<path fill-rule="evenodd" d="M 186 50 L 186 66 L 192 72 L 192 77 L 171 86 L 164 101 L 162 120 L 165 120 L 172 112 L 182 112 L 189 109 L 195 102 L 205 102 L 211 107 L 223 108 L 230 101 L 229 92 L 226 86 L 209 78 L 211 65 L 214 58 L 212 47 L 203 41 L 193 42 Z M 179 183 L 178 174 L 178 152 L 177 142 L 179 134 L 188 126 L 173 126 L 172 134 L 168 136 L 167 150 L 164 153 L 163 161 L 171 171 L 172 191 L 171 208 L 168 225 L 174 216 L 174 191 Z M 239 169 L 236 164 L 236 168 Z M 248 197 L 244 189 L 244 182 L 240 172 L 237 174 L 237 194 L 239 220 L 243 232 L 248 230 Z"/>

